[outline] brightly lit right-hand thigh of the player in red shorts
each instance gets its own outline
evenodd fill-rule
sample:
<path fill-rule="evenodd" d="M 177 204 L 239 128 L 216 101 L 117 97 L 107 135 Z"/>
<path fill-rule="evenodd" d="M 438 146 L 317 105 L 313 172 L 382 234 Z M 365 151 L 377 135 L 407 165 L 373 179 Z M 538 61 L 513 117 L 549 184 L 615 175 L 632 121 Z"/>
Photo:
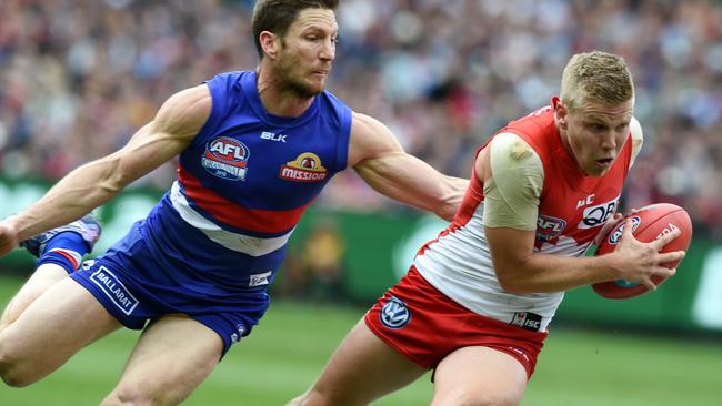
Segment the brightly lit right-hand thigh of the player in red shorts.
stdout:
<path fill-rule="evenodd" d="M 527 371 L 513 356 L 489 347 L 463 347 L 434 372 L 432 405 L 518 405 Z"/>

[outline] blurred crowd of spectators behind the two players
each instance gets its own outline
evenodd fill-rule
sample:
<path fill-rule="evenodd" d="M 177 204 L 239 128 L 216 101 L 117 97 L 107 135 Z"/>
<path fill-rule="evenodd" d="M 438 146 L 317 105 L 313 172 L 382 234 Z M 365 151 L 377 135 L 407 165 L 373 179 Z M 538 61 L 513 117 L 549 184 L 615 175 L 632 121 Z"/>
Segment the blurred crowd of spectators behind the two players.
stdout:
<path fill-rule="evenodd" d="M 57 180 L 122 146 L 178 90 L 254 69 L 253 1 L 0 0 L 0 175 Z M 412 154 L 468 177 L 508 121 L 558 93 L 572 53 L 623 55 L 645 134 L 625 210 L 683 205 L 722 240 L 722 3 L 342 0 L 329 89 Z M 174 166 L 139 186 L 167 187 Z M 404 210 L 355 175 L 320 204 Z"/>

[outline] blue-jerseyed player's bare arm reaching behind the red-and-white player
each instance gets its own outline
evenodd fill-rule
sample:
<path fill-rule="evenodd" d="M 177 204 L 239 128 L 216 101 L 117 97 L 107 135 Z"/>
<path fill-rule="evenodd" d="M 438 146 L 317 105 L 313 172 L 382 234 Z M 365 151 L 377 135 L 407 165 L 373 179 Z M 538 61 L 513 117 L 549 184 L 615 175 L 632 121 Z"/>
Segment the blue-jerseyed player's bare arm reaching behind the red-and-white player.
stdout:
<path fill-rule="evenodd" d="M 453 217 L 469 184 L 408 154 L 385 125 L 360 113 L 353 113 L 349 165 L 377 192 L 444 220 Z"/>

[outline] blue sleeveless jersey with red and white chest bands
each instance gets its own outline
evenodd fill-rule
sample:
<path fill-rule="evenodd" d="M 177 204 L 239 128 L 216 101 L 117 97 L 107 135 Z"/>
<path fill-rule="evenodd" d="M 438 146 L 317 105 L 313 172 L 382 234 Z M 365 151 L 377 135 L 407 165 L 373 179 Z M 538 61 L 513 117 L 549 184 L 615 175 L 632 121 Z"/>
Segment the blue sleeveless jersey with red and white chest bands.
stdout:
<path fill-rule="evenodd" d="M 210 118 L 138 229 L 156 272 L 204 295 L 264 292 L 301 214 L 347 166 L 347 105 L 324 91 L 299 118 L 271 115 L 255 79 L 228 72 L 207 82 Z"/>

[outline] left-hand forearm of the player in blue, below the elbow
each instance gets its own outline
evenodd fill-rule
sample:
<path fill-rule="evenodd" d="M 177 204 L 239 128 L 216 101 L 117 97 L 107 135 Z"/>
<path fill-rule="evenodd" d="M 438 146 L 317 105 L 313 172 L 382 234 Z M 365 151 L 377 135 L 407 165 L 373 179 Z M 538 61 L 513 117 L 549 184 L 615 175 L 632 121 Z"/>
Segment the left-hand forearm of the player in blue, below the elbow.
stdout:
<path fill-rule="evenodd" d="M 111 156 L 87 163 L 59 181 L 38 202 L 12 216 L 20 241 L 69 223 L 106 203 L 124 186 Z"/>

